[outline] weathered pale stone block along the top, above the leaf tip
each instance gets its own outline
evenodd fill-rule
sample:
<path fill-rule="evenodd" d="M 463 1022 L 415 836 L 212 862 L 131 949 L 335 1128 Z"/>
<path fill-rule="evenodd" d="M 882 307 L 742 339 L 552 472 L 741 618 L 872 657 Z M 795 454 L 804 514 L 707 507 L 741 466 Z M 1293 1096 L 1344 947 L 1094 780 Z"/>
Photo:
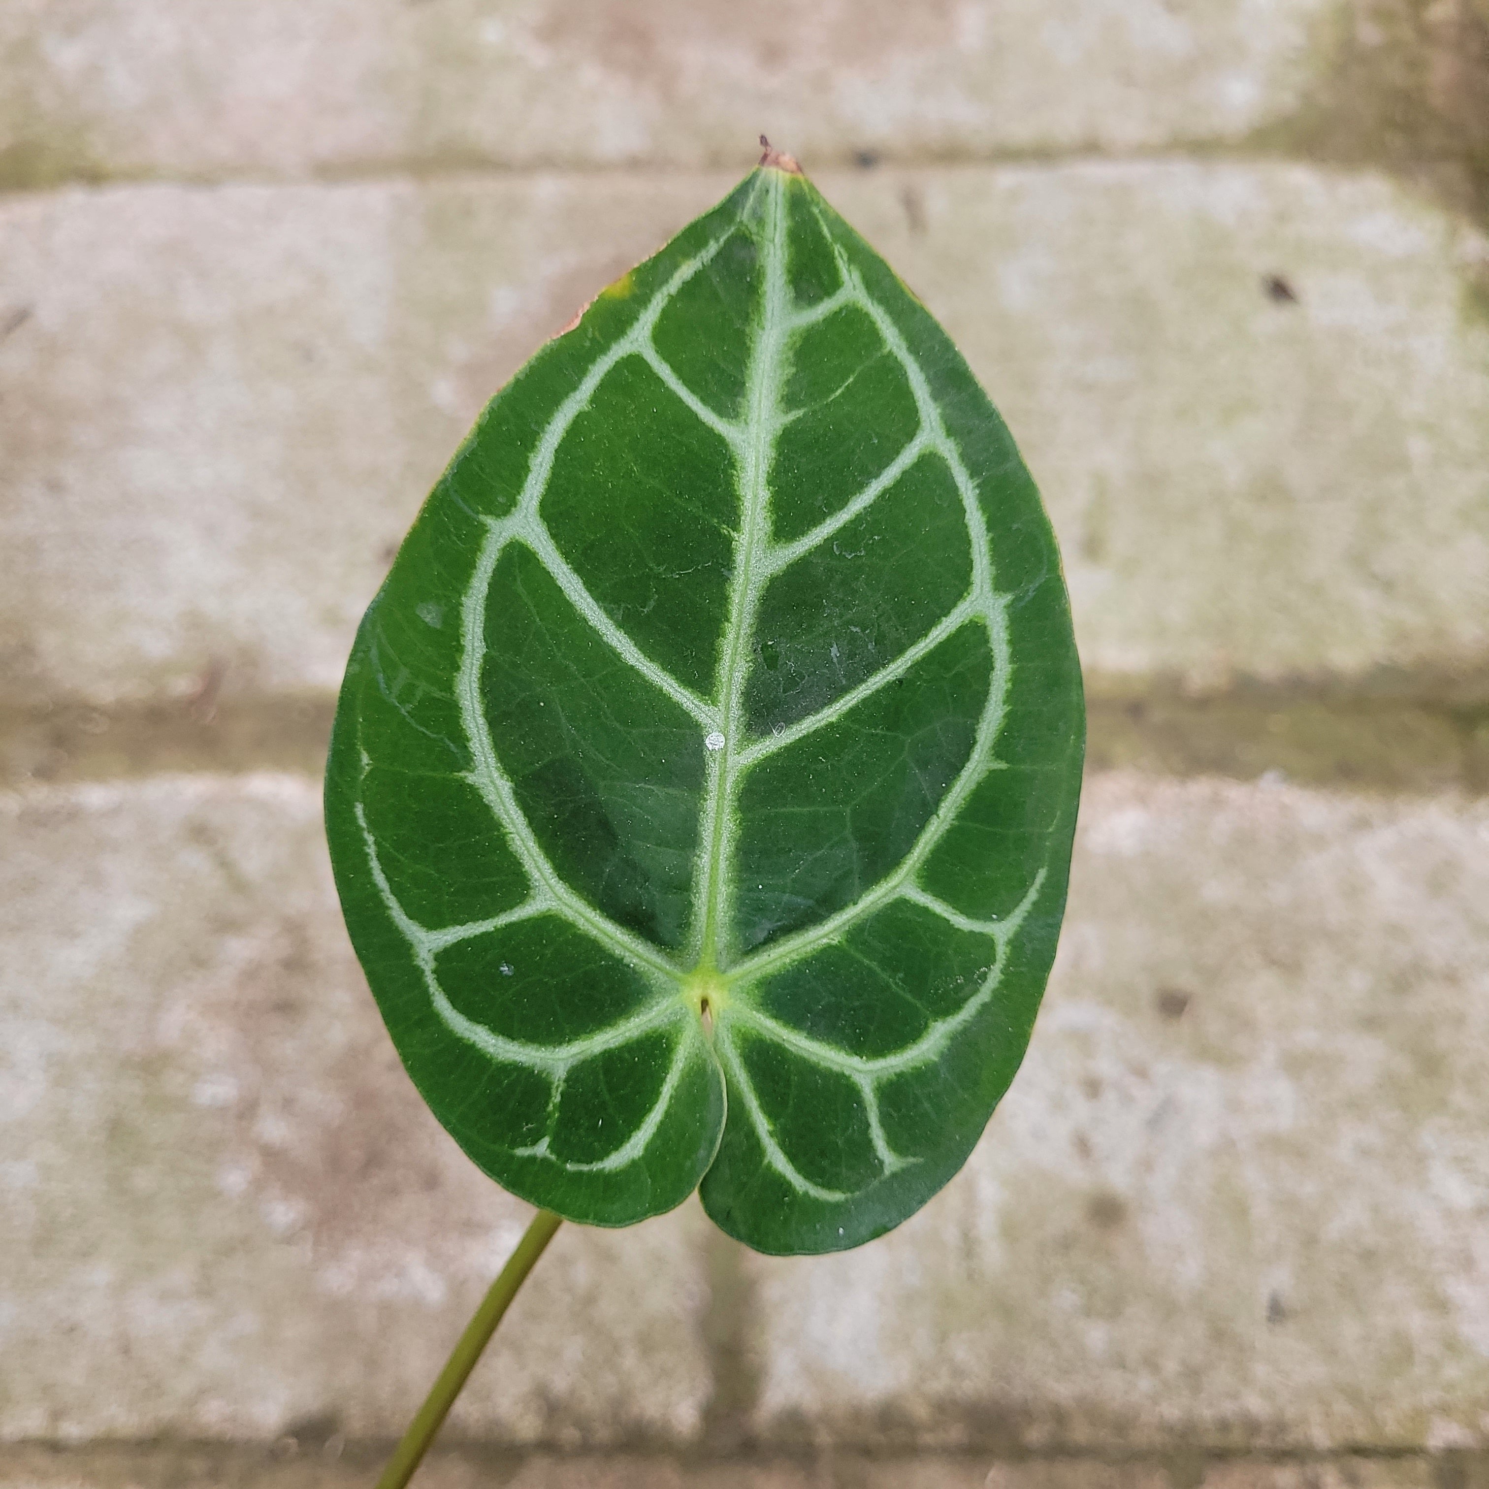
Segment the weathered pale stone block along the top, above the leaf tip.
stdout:
<path fill-rule="evenodd" d="M 9 0 L 0 180 L 432 165 L 739 170 L 1237 140 L 1333 0 Z"/>

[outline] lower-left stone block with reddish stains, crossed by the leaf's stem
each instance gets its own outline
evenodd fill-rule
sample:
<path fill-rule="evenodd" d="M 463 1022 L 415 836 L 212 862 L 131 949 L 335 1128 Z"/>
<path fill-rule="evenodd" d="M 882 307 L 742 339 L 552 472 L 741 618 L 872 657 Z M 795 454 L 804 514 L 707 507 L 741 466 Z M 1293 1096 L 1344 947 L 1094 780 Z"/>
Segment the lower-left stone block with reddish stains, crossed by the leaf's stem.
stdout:
<path fill-rule="evenodd" d="M 530 1212 L 399 1068 L 317 786 L 4 797 L 0 840 L 0 1440 L 401 1432 Z M 691 1437 L 704 1227 L 561 1230 L 451 1432 Z"/>

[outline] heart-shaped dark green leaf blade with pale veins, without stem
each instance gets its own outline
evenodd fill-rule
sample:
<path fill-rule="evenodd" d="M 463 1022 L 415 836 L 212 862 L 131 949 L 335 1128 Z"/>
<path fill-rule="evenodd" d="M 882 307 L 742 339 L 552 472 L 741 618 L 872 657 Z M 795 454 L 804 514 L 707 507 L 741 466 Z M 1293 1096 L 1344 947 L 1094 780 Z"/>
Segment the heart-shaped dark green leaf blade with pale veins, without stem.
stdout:
<path fill-rule="evenodd" d="M 326 780 L 409 1074 L 515 1194 L 856 1246 L 965 1161 L 1060 916 L 1059 555 L 919 301 L 789 162 L 605 290 L 439 481 Z"/>

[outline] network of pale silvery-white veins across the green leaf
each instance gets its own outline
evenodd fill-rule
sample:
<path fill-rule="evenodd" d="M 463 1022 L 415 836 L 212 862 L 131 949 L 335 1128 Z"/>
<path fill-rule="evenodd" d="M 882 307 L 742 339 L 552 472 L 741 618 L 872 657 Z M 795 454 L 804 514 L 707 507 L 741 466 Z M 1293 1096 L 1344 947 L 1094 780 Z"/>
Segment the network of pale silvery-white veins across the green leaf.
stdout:
<path fill-rule="evenodd" d="M 414 953 L 414 959 L 420 966 L 439 1017 L 451 1032 L 481 1048 L 491 1059 L 524 1065 L 548 1075 L 554 1081 L 554 1103 L 557 1103 L 557 1096 L 567 1071 L 579 1060 L 590 1059 L 621 1044 L 628 1044 L 669 1024 L 682 1024 L 683 1018 L 686 1018 L 686 1027 L 679 1029 L 667 1077 L 655 1103 L 631 1136 L 606 1158 L 597 1163 L 554 1158 L 548 1152 L 546 1138 L 532 1148 L 514 1150 L 518 1155 L 552 1158 L 560 1166 L 576 1172 L 613 1169 L 637 1158 L 661 1124 L 666 1108 L 682 1078 L 682 1072 L 697 1050 L 698 1035 L 691 1017 L 691 1008 L 676 996 L 676 987 L 686 975 L 683 968 L 661 948 L 618 925 L 597 907 L 591 905 L 558 876 L 538 843 L 532 826 L 527 823 L 517 801 L 512 782 L 499 762 L 481 700 L 481 667 L 485 658 L 485 608 L 496 566 L 506 545 L 514 541 L 524 543 L 567 596 L 576 612 L 616 655 L 685 709 L 710 737 L 715 734 L 722 736 L 722 746 L 709 749 L 706 756 L 704 803 L 700 820 L 698 862 L 694 877 L 694 923 L 689 934 L 688 957 L 694 963 L 694 972 L 722 972 L 730 984 L 746 983 L 810 956 L 822 946 L 840 940 L 850 925 L 873 914 L 895 898 L 917 904 L 960 931 L 989 935 L 995 943 L 995 963 L 978 992 L 956 1014 L 934 1021 L 914 1044 L 890 1056 L 867 1059 L 849 1054 L 844 1050 L 823 1044 L 770 1018 L 755 1008 L 747 998 L 731 1002 L 727 1015 L 719 1021 L 715 1048 L 744 1102 L 746 1114 L 759 1138 L 765 1158 L 803 1194 L 828 1202 L 841 1200 L 847 1196 L 812 1184 L 782 1151 L 771 1124 L 759 1106 L 743 1060 L 736 1048 L 734 1035 L 728 1026 L 733 1023 L 749 1029 L 753 1038 L 771 1039 L 816 1065 L 847 1075 L 859 1088 L 865 1102 L 871 1141 L 883 1172 L 886 1175 L 893 1173 L 913 1160 L 898 1157 L 889 1147 L 879 1112 L 876 1083 L 886 1075 L 898 1074 L 935 1059 L 954 1032 L 969 1021 L 993 995 L 1002 972 L 1008 943 L 1017 934 L 1024 916 L 1038 898 L 1044 881 L 1044 871 L 1039 871 L 1021 904 L 1011 914 L 996 922 L 974 920 L 922 890 L 914 883 L 916 873 L 956 819 L 966 797 L 987 770 L 996 765 L 992 750 L 1002 721 L 1010 675 L 1007 618 L 1004 613 L 1005 602 L 993 590 L 986 529 L 983 527 L 977 503 L 975 484 L 962 463 L 956 442 L 950 438 L 941 421 L 940 409 L 935 405 L 925 374 L 911 356 L 898 326 L 864 290 L 852 265 L 835 247 L 834 252 L 838 256 L 838 268 L 843 275 L 841 287 L 817 305 L 795 310 L 786 281 L 785 262 L 786 208 L 783 194 L 786 191 L 786 177 L 780 171 L 765 171 L 758 179 L 756 191 L 761 189 L 768 194 L 764 207 L 765 231 L 761 235 L 764 238 L 762 296 L 761 317 L 756 334 L 752 338 L 746 375 L 744 420 L 740 423 L 727 420 L 703 404 L 660 356 L 652 342 L 652 331 L 661 313 L 677 290 L 704 268 L 719 247 L 722 247 L 731 231 L 725 229 L 697 258 L 682 265 L 667 284 L 658 290 L 631 329 L 591 363 L 579 386 L 560 404 L 543 429 L 514 511 L 503 518 L 487 521 L 485 539 L 482 541 L 475 572 L 462 602 L 462 663 L 456 692 L 462 724 L 474 759 L 474 767 L 466 773 L 466 779 L 479 791 L 493 816 L 505 828 L 508 840 L 527 873 L 532 886 L 530 895 L 518 907 L 487 920 L 436 931 L 426 929 L 417 925 L 399 905 L 383 871 L 377 844 L 360 804 L 357 804 L 356 813 L 366 840 L 369 865 L 378 892 Z M 828 241 L 831 241 L 831 234 L 826 232 L 825 223 L 823 232 Z M 786 344 L 792 332 L 832 314 L 844 305 L 856 305 L 873 319 L 884 344 L 902 366 L 916 401 L 920 420 L 919 429 L 884 471 L 840 511 L 794 542 L 777 545 L 773 542 L 770 532 L 768 479 L 776 439 L 788 421 L 780 408 Z M 740 532 L 736 543 L 736 570 L 728 597 L 725 642 L 721 649 L 715 688 L 715 697 L 719 700 L 716 704 L 700 698 L 667 673 L 666 669 L 651 661 L 610 619 L 603 606 L 590 594 L 584 581 L 558 551 L 546 524 L 539 515 L 539 503 L 546 490 L 554 457 L 564 435 L 575 418 L 590 405 L 596 389 L 610 368 L 622 357 L 633 354 L 642 357 L 663 384 L 701 423 L 730 444 L 737 462 Z M 755 618 L 765 584 L 782 569 L 814 549 L 873 505 L 883 491 L 893 485 L 928 451 L 946 460 L 963 502 L 972 548 L 972 585 L 968 596 L 919 642 L 907 648 L 905 652 L 856 688 L 843 694 L 832 704 L 767 739 L 746 743 L 744 691 L 749 680 Z M 728 965 L 730 864 L 733 861 L 736 834 L 734 803 L 744 773 L 767 755 L 795 743 L 806 734 L 846 715 L 864 698 L 908 672 L 935 646 L 941 645 L 957 628 L 972 619 L 981 619 L 987 627 L 993 655 L 993 676 L 987 704 L 984 706 L 983 716 L 978 719 L 969 758 L 947 789 L 932 819 L 922 829 L 911 852 L 895 871 L 871 886 L 852 905 L 846 905 L 814 926 L 773 943 L 753 956 L 746 956 L 743 960 L 734 960 L 733 965 Z M 563 916 L 622 960 L 636 966 L 643 975 L 658 980 L 658 996 L 639 1013 L 563 1045 L 535 1045 L 524 1041 L 506 1039 L 456 1010 L 435 974 L 438 953 L 459 941 L 545 913 Z M 719 960 L 725 960 L 727 965 L 719 968 Z"/>

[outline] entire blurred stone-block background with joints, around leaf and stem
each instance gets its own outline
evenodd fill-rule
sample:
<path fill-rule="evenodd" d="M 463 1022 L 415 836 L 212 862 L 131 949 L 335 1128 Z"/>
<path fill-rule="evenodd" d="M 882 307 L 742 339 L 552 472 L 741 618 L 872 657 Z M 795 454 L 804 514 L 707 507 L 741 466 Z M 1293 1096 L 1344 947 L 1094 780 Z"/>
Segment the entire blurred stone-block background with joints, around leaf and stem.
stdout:
<path fill-rule="evenodd" d="M 526 1221 L 347 947 L 353 625 L 794 150 L 1059 532 L 1071 911 L 862 1251 L 560 1233 L 430 1485 L 1489 1485 L 1486 0 L 0 0 L 0 1485 L 354 1485 Z"/>

